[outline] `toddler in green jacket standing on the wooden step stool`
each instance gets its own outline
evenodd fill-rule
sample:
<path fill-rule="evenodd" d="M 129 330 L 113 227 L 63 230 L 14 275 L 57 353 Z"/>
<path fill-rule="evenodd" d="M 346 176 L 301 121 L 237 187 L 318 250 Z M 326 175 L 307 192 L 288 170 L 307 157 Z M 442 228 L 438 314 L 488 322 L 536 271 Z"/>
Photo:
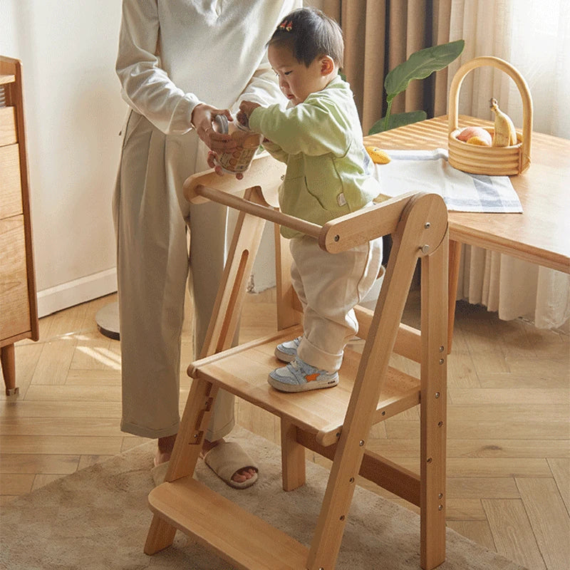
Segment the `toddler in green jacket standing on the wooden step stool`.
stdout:
<path fill-rule="evenodd" d="M 244 101 L 237 119 L 264 135 L 266 150 L 287 165 L 281 211 L 322 225 L 370 204 L 380 187 L 369 172 L 353 93 L 338 74 L 341 28 L 321 11 L 296 10 L 271 36 L 268 56 L 290 103 L 281 110 Z M 378 276 L 381 238 L 330 254 L 292 229 L 281 227 L 281 235 L 291 239 L 304 334 L 276 347 L 276 357 L 288 364 L 271 372 L 269 383 L 284 392 L 330 388 L 358 331 L 353 308 Z"/>

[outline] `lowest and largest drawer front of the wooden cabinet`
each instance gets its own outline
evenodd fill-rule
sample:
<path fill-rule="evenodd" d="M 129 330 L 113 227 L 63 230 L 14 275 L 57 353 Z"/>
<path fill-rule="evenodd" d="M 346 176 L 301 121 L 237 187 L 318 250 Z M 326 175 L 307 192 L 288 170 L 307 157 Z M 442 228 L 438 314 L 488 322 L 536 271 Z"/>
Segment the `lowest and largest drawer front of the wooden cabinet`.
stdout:
<path fill-rule="evenodd" d="M 24 216 L 0 219 L 0 339 L 31 329 Z"/>

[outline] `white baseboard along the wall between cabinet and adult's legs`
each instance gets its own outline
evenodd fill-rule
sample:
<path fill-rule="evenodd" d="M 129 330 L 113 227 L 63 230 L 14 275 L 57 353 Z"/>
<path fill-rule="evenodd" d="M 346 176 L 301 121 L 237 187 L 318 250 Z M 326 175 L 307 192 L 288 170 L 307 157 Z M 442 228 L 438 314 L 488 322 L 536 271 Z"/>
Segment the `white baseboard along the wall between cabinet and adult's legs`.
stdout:
<path fill-rule="evenodd" d="M 117 269 L 106 269 L 50 289 L 38 291 L 38 316 L 68 309 L 117 291 Z"/>

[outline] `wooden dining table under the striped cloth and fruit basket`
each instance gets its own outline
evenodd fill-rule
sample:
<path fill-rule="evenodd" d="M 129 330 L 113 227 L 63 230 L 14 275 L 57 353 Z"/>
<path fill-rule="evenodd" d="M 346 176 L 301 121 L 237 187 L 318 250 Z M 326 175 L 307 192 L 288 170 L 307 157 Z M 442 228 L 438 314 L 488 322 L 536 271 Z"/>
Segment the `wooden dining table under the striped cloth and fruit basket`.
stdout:
<path fill-rule="evenodd" d="M 487 120 L 460 115 L 460 127 L 492 126 Z M 427 119 L 365 137 L 383 150 L 447 149 L 447 116 Z M 389 153 L 388 153 L 389 154 Z M 451 350 L 461 244 L 509 254 L 570 273 L 570 140 L 532 133 L 531 165 L 511 176 L 522 214 L 449 212 L 450 271 L 448 345 Z M 421 190 L 410 188 L 410 191 Z"/>

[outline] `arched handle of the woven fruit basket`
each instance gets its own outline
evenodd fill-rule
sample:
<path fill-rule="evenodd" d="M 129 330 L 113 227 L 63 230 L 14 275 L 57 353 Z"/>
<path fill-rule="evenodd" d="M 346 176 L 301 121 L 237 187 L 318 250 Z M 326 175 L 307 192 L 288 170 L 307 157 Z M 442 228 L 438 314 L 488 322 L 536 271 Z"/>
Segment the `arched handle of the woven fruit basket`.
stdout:
<path fill-rule="evenodd" d="M 459 90 L 463 79 L 473 69 L 477 67 L 491 66 L 507 73 L 515 85 L 519 89 L 522 98 L 522 145 L 521 145 L 521 165 L 520 172 L 524 172 L 530 165 L 530 147 L 532 138 L 532 98 L 530 96 L 529 86 L 524 81 L 524 77 L 519 73 L 517 68 L 512 66 L 508 61 L 494 56 L 481 56 L 464 63 L 455 73 L 450 86 L 449 100 L 449 131 L 452 133 L 458 128 L 457 109 L 459 108 Z"/>

